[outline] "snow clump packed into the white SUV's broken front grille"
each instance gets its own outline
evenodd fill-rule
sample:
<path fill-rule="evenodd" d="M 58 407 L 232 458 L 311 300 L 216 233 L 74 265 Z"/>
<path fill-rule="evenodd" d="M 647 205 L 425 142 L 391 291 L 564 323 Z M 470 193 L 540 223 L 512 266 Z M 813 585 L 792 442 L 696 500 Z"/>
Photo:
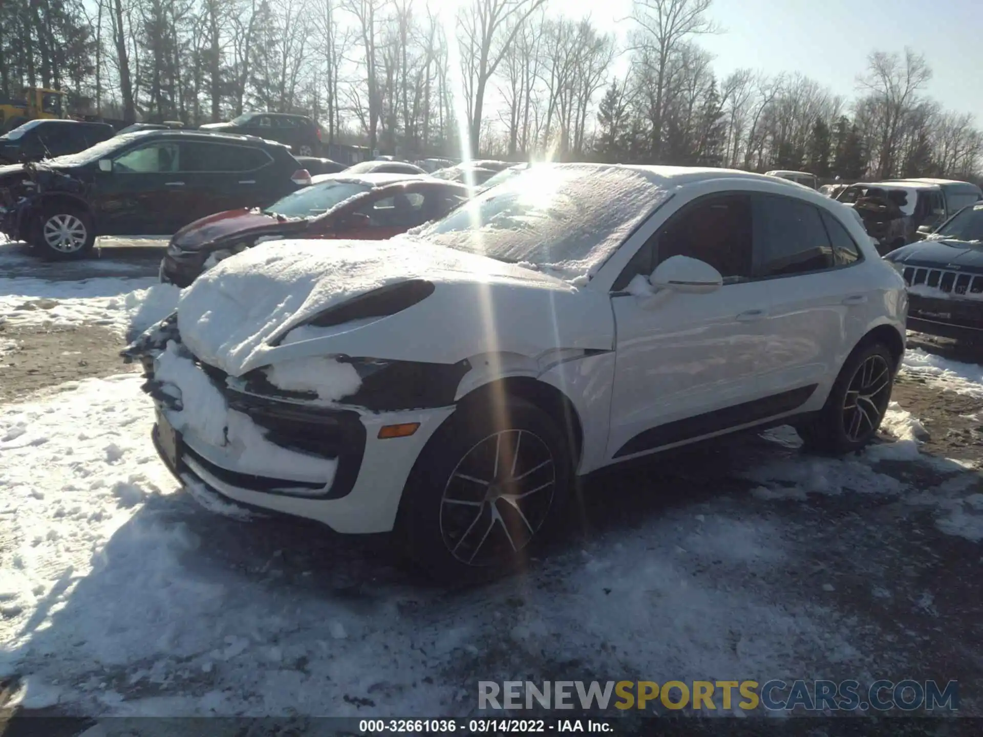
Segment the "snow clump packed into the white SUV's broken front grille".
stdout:
<path fill-rule="evenodd" d="M 300 475 L 325 485 L 334 479 L 335 459 L 288 450 L 267 440 L 249 416 L 229 409 L 207 374 L 173 341 L 158 357 L 154 378 L 177 389 L 182 409 L 167 412 L 175 429 L 191 432 L 209 445 L 227 445 L 241 473 L 287 479 Z"/>

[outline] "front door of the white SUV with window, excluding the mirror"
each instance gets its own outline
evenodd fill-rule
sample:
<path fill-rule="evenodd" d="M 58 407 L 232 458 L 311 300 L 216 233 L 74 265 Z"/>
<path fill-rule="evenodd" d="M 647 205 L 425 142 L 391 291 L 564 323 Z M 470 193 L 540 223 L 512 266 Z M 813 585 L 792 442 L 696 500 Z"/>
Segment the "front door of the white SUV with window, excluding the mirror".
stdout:
<path fill-rule="evenodd" d="M 759 380 L 772 323 L 767 291 L 752 280 L 752 237 L 749 194 L 698 198 L 673 213 L 615 281 L 608 459 L 774 414 L 772 391 Z M 647 276 L 672 255 L 710 263 L 723 287 L 649 294 Z"/>

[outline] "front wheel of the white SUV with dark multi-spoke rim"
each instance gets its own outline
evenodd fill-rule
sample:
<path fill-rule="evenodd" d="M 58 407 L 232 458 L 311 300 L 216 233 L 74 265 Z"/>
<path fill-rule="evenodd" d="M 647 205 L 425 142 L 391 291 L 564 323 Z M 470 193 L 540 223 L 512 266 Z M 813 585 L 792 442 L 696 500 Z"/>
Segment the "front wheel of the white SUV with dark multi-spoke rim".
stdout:
<path fill-rule="evenodd" d="M 445 583 L 492 579 L 527 563 L 566 505 L 573 461 L 535 405 L 459 406 L 421 454 L 403 491 L 397 534 Z"/>

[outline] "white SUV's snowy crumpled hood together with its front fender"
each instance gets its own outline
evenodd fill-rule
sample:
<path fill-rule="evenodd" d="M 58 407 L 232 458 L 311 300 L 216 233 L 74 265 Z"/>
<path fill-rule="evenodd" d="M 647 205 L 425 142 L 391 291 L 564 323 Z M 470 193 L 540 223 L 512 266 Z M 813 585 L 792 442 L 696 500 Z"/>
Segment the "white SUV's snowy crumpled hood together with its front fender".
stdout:
<path fill-rule="evenodd" d="M 400 282 L 428 282 L 433 293 L 392 314 L 305 325 Z M 233 376 L 312 356 L 450 364 L 489 352 L 610 350 L 613 342 L 607 295 L 405 236 L 331 248 L 275 241 L 227 258 L 184 292 L 178 328 L 200 360 Z"/>

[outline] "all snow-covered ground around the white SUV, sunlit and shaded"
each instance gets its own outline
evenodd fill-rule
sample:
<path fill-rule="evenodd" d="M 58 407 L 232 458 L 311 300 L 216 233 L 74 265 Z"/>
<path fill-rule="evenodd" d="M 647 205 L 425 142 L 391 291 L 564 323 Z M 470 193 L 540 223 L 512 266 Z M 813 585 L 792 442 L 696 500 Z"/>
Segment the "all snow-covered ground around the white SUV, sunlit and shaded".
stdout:
<path fill-rule="evenodd" d="M 59 319 L 124 330 L 165 306 L 134 291 L 149 281 L 0 278 L 0 311 L 58 300 Z M 983 397 L 978 366 L 913 351 L 904 371 Z M 377 540 L 202 509 L 156 457 L 141 383 L 90 378 L 0 407 L 0 680 L 26 709 L 434 716 L 471 712 L 479 679 L 907 675 L 911 651 L 884 649 L 893 624 L 839 594 L 926 611 L 933 594 L 892 565 L 852 569 L 896 560 L 912 510 L 954 544 L 983 539 L 972 464 L 922 454 L 924 427 L 893 405 L 896 442 L 845 460 L 778 428 L 711 462 L 612 472 L 587 489 L 591 534 L 524 575 L 447 591 Z M 850 520 L 859 543 L 817 537 Z"/>

